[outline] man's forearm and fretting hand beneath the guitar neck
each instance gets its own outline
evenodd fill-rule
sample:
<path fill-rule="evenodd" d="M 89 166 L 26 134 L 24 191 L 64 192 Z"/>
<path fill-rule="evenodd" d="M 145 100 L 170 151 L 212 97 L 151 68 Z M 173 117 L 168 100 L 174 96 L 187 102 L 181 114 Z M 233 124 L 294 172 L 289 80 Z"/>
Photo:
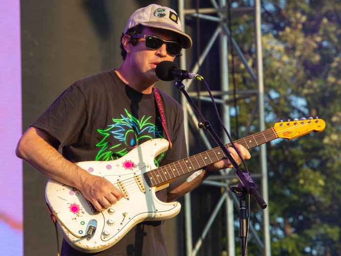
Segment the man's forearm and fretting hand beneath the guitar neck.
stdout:
<path fill-rule="evenodd" d="M 246 148 L 244 148 L 240 144 L 235 144 L 235 146 L 237 147 L 243 159 L 245 160 L 250 159 L 251 155 Z M 238 164 L 241 164 L 242 160 L 239 158 L 239 155 L 237 154 L 237 152 L 231 147 L 228 148 L 227 150 L 233 156 L 235 161 Z M 231 168 L 231 167 L 233 166 L 228 159 L 223 159 L 216 163 L 206 166 L 207 171 L 212 172 L 212 173 L 220 169 Z M 186 193 L 192 191 L 198 185 L 200 185 L 201 182 L 204 181 L 208 176 L 209 175 L 207 174 L 207 172 L 201 172 L 197 177 L 195 177 L 195 179 L 193 179 L 190 182 L 188 182 L 187 180 L 185 180 L 184 182 L 180 182 L 180 183 L 177 180 L 173 181 L 174 183 L 172 182 L 173 184 L 170 185 L 170 189 L 168 189 L 168 192 L 167 192 L 167 201 L 171 202 L 175 200 L 176 198 L 183 196 Z"/>

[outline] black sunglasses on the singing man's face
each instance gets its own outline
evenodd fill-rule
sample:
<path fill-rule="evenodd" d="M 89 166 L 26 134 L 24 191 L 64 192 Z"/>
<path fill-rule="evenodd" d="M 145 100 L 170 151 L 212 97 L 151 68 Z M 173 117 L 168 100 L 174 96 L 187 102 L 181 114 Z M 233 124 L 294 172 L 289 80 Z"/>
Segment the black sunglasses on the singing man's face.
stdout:
<path fill-rule="evenodd" d="M 164 41 L 157 36 L 143 35 L 143 34 L 133 34 L 132 38 L 145 38 L 146 48 L 150 50 L 157 50 L 163 44 L 166 44 L 166 51 L 170 55 L 177 55 L 182 49 L 182 45 L 173 41 Z"/>

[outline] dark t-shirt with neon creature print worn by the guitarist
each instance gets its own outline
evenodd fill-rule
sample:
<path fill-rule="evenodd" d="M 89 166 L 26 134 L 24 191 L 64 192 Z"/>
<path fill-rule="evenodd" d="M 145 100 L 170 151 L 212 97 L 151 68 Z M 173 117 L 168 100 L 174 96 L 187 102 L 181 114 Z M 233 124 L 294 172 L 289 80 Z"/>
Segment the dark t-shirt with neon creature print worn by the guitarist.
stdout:
<path fill-rule="evenodd" d="M 178 102 L 159 90 L 172 149 L 158 155 L 163 166 L 187 156 L 183 111 Z M 142 94 L 126 85 L 115 71 L 76 81 L 32 124 L 54 136 L 65 158 L 72 162 L 115 160 L 153 138 L 166 138 L 159 121 L 154 93 Z M 157 192 L 162 201 L 165 189 Z M 167 255 L 162 222 L 144 222 L 117 244 L 97 254 L 83 254 L 63 241 L 62 254 Z"/>

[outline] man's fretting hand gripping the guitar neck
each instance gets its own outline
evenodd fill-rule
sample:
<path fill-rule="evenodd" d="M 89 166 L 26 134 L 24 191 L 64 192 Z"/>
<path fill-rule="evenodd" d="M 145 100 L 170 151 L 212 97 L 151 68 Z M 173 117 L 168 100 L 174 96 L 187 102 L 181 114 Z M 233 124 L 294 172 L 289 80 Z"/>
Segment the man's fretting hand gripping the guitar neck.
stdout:
<path fill-rule="evenodd" d="M 248 152 L 248 150 L 246 148 L 244 148 L 244 146 L 235 143 L 234 144 L 236 146 L 236 148 L 238 149 L 239 153 L 241 154 L 242 158 L 247 160 L 251 158 L 250 153 Z M 234 148 L 229 147 L 227 148 L 228 152 L 232 155 L 232 157 L 235 159 L 235 161 L 237 162 L 237 164 L 241 164 L 242 163 L 242 159 L 239 157 L 239 155 L 237 154 L 237 152 L 235 151 Z M 225 168 L 232 168 L 233 165 L 231 164 L 229 159 L 222 159 L 218 162 L 215 162 L 213 164 L 209 164 L 206 166 L 207 170 L 209 172 L 215 172 L 217 170 L 220 169 L 225 169 Z"/>

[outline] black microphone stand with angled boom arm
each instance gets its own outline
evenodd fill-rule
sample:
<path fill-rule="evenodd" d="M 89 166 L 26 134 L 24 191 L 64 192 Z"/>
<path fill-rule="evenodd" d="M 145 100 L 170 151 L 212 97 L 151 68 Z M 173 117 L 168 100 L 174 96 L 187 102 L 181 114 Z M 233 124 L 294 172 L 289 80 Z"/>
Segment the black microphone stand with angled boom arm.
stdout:
<path fill-rule="evenodd" d="M 246 194 L 251 194 L 253 198 L 256 200 L 258 205 L 265 209 L 267 207 L 267 204 L 265 203 L 263 197 L 258 192 L 258 188 L 254 181 L 251 179 L 250 175 L 243 170 L 237 162 L 234 160 L 234 158 L 231 156 L 231 154 L 226 149 L 224 143 L 220 140 L 217 133 L 214 131 L 214 129 L 211 126 L 211 123 L 205 119 L 205 117 L 202 115 L 201 111 L 198 109 L 198 107 L 195 105 L 195 102 L 191 99 L 191 97 L 188 95 L 188 93 L 185 90 L 185 85 L 182 83 L 182 80 L 176 80 L 175 81 L 176 88 L 183 93 L 183 95 L 186 97 L 187 101 L 191 104 L 192 108 L 195 110 L 196 114 L 199 116 L 201 122 L 199 123 L 199 128 L 205 128 L 214 141 L 218 144 L 221 151 L 224 153 L 224 155 L 230 160 L 231 164 L 236 170 L 236 175 L 239 179 L 239 185 L 238 187 L 231 187 L 230 190 L 239 197 L 239 217 L 240 217 L 240 240 L 241 240 L 241 249 L 242 249 L 242 256 L 247 255 L 247 248 L 246 248 L 246 238 L 247 238 L 247 210 L 246 210 Z"/>

